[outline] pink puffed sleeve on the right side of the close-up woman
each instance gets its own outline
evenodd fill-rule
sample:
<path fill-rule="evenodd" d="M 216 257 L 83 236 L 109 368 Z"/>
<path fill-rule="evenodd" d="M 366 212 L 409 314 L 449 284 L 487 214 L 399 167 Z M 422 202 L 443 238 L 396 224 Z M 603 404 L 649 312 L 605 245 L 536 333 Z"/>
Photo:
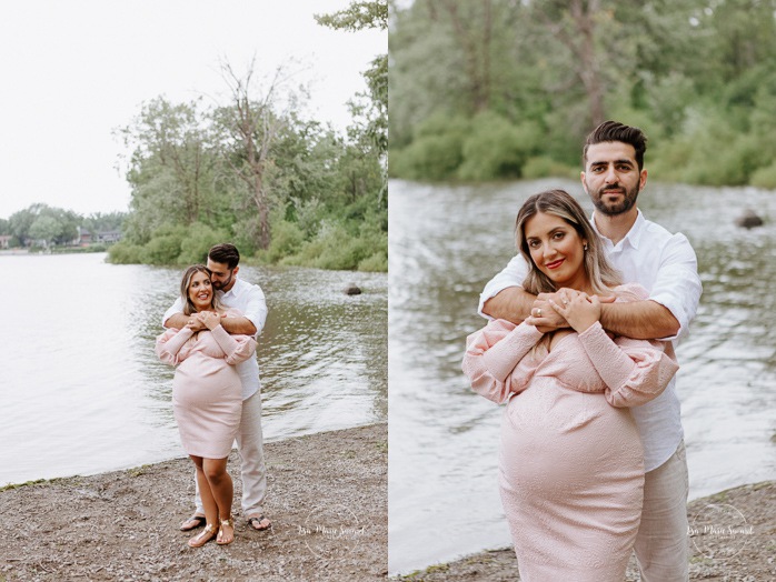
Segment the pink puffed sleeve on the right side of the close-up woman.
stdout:
<path fill-rule="evenodd" d="M 617 408 L 639 407 L 660 395 L 679 369 L 670 343 L 611 340 L 599 322 L 579 334 L 587 357 L 606 384 L 606 400 Z"/>

